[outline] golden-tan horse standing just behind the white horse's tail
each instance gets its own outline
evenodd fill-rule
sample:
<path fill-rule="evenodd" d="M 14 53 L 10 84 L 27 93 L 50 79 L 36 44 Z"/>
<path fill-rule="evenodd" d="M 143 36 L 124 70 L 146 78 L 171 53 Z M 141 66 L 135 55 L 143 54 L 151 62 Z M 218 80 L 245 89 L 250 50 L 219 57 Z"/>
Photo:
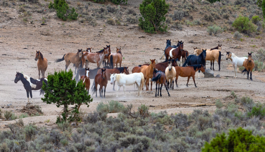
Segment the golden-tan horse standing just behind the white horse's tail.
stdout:
<path fill-rule="evenodd" d="M 151 60 L 151 64 L 149 66 L 141 66 L 140 72 L 142 72 L 144 74 L 144 78 L 145 78 L 145 86 L 146 86 L 146 91 L 148 91 L 148 87 L 149 87 L 149 79 L 153 77 L 153 71 L 154 68 L 156 68 L 156 59 Z M 144 88 L 142 88 L 142 90 L 144 90 Z M 151 91 L 152 91 L 152 83 L 151 83 Z"/>

